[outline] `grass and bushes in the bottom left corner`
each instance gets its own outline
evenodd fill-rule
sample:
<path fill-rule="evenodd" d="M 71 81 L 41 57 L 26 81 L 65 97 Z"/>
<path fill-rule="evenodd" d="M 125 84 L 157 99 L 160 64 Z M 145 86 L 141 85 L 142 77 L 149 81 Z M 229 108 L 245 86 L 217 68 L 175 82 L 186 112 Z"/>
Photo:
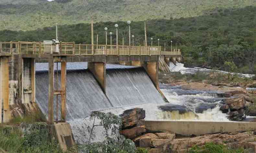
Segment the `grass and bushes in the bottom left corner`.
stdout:
<path fill-rule="evenodd" d="M 57 142 L 49 138 L 45 124 L 33 124 L 22 132 L 20 129 L 0 126 L 0 149 L 9 153 L 62 153 Z"/>

